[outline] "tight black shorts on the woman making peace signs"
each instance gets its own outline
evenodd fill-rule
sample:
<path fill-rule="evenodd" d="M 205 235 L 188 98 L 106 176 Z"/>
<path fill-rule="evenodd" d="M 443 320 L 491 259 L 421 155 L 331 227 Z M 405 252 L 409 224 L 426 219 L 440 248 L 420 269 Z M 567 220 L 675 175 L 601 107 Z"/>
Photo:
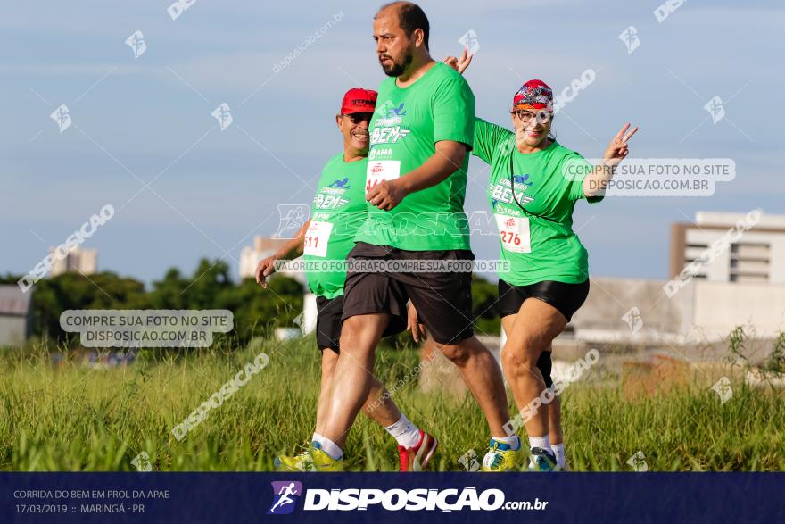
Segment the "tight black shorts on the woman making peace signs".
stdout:
<path fill-rule="evenodd" d="M 529 286 L 512 286 L 499 279 L 499 312 L 502 317 L 514 315 L 527 298 L 539 298 L 563 314 L 569 322 L 589 295 L 589 279 L 580 284 L 543 280 Z"/>

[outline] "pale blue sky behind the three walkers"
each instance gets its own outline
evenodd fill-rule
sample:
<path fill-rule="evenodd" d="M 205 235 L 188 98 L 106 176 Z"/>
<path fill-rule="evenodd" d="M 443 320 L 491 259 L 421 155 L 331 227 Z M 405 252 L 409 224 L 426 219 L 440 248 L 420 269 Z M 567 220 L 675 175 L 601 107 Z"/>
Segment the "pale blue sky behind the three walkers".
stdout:
<path fill-rule="evenodd" d="M 558 92 L 591 68 L 595 81 L 554 122 L 560 143 L 599 156 L 632 121 L 634 156 L 735 160 L 736 179 L 713 196 L 578 204 L 575 229 L 595 276 L 665 278 L 670 224 L 698 210 L 785 212 L 777 130 L 785 8 L 686 2 L 660 23 L 658 4 L 421 3 L 434 58 L 458 54 L 459 37 L 475 30 L 467 79 L 478 116 L 508 125 L 523 81 L 544 79 Z M 383 78 L 376 4 L 196 0 L 177 20 L 168 5 L 0 7 L 0 271 L 30 270 L 112 204 L 115 217 L 84 245 L 99 250 L 100 269 L 149 282 L 171 266 L 191 272 L 207 256 L 236 273 L 253 235 L 277 229 L 277 204 L 310 203 L 318 171 L 342 147 L 333 115 L 343 92 Z M 640 46 L 628 54 L 618 35 L 631 25 Z M 136 30 L 147 50 L 135 60 L 125 40 Z M 725 101 L 716 124 L 703 107 L 713 96 Z M 224 131 L 211 116 L 221 103 L 234 118 Z M 74 124 L 63 133 L 49 118 L 60 104 Z M 470 178 L 467 212 L 487 209 L 487 171 L 476 158 Z M 477 258 L 495 257 L 497 246 L 473 240 Z"/>

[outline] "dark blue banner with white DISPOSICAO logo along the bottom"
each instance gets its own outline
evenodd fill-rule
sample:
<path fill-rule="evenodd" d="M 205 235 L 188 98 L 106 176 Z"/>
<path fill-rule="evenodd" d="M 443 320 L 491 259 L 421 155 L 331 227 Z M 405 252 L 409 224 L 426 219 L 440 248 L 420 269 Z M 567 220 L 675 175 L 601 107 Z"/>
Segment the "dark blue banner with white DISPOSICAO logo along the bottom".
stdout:
<path fill-rule="evenodd" d="M 782 473 L 2 473 L 0 522 L 785 521 Z"/>

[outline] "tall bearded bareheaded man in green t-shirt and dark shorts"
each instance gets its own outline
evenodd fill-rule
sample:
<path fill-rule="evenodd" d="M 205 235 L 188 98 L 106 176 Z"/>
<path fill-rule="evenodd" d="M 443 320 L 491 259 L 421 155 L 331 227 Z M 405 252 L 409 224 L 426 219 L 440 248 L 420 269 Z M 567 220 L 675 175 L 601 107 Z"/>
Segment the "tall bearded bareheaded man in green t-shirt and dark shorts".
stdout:
<path fill-rule="evenodd" d="M 463 204 L 475 98 L 463 77 L 431 58 L 428 33 L 425 13 L 408 2 L 384 5 L 374 18 L 376 53 L 389 78 L 369 127 L 368 219 L 349 254 L 354 265 L 344 287 L 341 354 L 324 432 L 333 462 L 342 461 L 368 398 L 379 338 L 409 299 L 483 409 L 492 450 L 519 446 L 504 431 L 500 367 L 472 329 L 474 255 Z"/>

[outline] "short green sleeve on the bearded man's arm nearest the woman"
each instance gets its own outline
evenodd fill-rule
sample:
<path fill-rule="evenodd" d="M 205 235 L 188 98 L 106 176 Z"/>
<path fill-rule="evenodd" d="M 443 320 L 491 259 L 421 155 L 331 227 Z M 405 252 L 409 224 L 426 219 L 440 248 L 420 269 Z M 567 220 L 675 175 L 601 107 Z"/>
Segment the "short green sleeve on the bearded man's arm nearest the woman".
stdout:
<path fill-rule="evenodd" d="M 440 83 L 434 94 L 434 144 L 450 140 L 471 149 L 475 141 L 475 95 L 466 79 L 450 72 L 454 74 Z"/>

